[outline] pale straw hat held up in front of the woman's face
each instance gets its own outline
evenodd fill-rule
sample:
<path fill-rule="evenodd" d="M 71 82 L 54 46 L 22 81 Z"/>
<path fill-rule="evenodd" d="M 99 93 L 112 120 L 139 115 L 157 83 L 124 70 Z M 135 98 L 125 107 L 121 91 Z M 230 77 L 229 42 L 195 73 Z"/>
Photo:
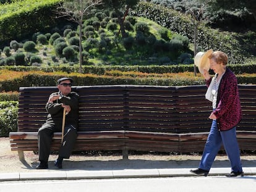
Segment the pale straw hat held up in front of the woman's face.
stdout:
<path fill-rule="evenodd" d="M 207 52 L 198 52 L 195 55 L 194 64 L 198 67 L 200 73 L 203 74 L 203 70 L 210 70 L 210 54 L 213 53 L 213 49 L 209 49 Z"/>

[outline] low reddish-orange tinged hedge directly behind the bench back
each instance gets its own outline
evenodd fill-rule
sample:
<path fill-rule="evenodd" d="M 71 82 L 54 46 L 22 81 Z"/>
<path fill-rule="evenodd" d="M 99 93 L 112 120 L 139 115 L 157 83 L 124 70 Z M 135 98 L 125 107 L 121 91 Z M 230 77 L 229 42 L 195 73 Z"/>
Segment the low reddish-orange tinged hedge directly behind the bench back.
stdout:
<path fill-rule="evenodd" d="M 164 86 L 186 86 L 186 85 L 204 85 L 205 81 L 200 77 L 186 76 L 177 74 L 175 77 L 164 74 L 142 76 L 136 73 L 131 75 L 92 75 L 84 74 L 63 74 L 63 75 L 46 75 L 46 74 L 28 74 L 20 78 L 0 81 L 0 91 L 19 91 L 20 86 L 56 86 L 58 78 L 63 76 L 74 79 L 74 85 L 164 85 Z M 256 84 L 256 75 L 250 76 L 237 75 L 239 84 Z"/>

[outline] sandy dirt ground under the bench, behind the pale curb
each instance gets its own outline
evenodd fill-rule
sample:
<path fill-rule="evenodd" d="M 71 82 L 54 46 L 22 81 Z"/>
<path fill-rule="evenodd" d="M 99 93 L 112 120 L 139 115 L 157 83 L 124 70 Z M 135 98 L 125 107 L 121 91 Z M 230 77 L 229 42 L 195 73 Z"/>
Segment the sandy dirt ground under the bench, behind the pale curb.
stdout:
<path fill-rule="evenodd" d="M 56 154 L 49 157 L 48 170 L 36 170 L 38 155 L 33 151 L 24 152 L 25 161 L 19 161 L 17 151 L 11 151 L 9 138 L 0 138 L 0 173 L 45 172 L 54 171 Z M 121 154 L 84 154 L 72 155 L 65 159 L 62 170 L 123 170 L 123 169 L 171 169 L 198 167 L 200 155 L 170 154 L 129 154 L 129 160 L 123 160 Z M 242 155 L 243 167 L 256 167 L 255 155 Z M 216 157 L 213 167 L 230 167 L 225 155 Z"/>

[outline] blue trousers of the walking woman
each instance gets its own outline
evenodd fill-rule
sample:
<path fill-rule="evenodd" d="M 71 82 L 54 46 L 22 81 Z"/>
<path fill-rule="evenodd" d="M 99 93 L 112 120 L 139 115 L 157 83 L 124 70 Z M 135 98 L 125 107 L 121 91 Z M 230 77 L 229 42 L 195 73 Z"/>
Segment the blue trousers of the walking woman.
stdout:
<path fill-rule="evenodd" d="M 239 146 L 236 139 L 236 127 L 228 131 L 218 131 L 217 121 L 211 123 L 211 130 L 203 149 L 203 156 L 199 164 L 199 168 L 210 170 L 213 161 L 223 144 L 226 154 L 231 163 L 231 171 L 242 172 L 242 164 L 240 159 Z"/>

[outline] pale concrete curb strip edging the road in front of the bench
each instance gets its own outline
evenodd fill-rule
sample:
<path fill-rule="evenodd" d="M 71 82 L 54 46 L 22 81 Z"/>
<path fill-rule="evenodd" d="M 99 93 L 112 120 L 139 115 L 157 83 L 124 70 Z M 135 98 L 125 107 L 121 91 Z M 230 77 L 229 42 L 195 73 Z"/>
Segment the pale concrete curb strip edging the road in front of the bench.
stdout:
<path fill-rule="evenodd" d="M 191 177 L 190 169 L 67 170 L 55 172 L 0 173 L 0 182 L 22 180 L 76 180 L 102 178 Z M 256 175 L 256 167 L 244 167 L 244 175 Z M 212 168 L 208 176 L 226 175 L 230 168 Z"/>

